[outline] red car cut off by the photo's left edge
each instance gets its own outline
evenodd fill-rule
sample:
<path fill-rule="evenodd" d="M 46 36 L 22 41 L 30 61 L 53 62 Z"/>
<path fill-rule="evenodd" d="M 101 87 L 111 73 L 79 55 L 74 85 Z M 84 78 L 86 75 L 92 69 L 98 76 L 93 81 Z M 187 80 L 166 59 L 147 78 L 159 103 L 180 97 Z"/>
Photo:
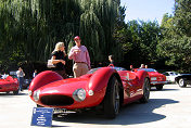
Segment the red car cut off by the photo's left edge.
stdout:
<path fill-rule="evenodd" d="M 0 92 L 13 91 L 14 94 L 18 94 L 18 81 L 16 78 L 8 76 L 5 79 L 0 79 Z"/>

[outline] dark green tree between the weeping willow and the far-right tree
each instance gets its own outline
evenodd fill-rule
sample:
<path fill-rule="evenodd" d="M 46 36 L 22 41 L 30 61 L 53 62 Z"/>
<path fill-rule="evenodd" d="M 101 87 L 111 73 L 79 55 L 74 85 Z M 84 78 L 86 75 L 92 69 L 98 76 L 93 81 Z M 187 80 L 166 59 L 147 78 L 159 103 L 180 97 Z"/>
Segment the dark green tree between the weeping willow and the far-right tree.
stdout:
<path fill-rule="evenodd" d="M 141 63 L 156 62 L 156 46 L 161 38 L 161 29 L 157 22 L 130 21 L 117 34 L 123 46 L 124 65 L 135 67 Z"/>

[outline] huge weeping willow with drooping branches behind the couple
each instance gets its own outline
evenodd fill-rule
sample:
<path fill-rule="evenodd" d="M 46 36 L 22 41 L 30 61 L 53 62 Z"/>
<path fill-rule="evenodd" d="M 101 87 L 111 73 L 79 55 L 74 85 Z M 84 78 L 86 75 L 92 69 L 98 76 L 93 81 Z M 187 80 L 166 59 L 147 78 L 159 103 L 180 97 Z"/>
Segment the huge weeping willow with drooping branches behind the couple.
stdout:
<path fill-rule="evenodd" d="M 68 51 L 76 35 L 91 61 L 103 62 L 120 50 L 113 38 L 118 7 L 119 0 L 0 0 L 1 63 L 47 62 L 58 41 Z"/>

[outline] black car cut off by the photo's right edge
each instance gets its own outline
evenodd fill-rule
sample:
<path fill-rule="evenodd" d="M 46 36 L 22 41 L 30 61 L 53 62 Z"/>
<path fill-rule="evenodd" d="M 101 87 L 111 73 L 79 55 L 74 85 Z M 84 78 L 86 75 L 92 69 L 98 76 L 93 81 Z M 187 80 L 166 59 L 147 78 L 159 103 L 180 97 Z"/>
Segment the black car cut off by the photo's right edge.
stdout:
<path fill-rule="evenodd" d="M 187 87 L 187 85 L 191 85 L 191 74 L 180 74 L 175 78 L 175 81 L 179 85 L 179 87 Z"/>

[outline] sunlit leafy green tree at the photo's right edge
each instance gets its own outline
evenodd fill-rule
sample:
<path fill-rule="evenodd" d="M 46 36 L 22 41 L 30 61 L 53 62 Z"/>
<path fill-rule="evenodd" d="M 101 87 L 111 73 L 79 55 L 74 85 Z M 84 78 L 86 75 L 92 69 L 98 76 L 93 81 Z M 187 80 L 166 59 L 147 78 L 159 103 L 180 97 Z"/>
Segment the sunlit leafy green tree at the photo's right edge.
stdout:
<path fill-rule="evenodd" d="M 191 67 L 191 1 L 177 0 L 174 16 L 164 17 L 163 40 L 157 46 L 161 56 L 166 64 L 182 72 L 190 72 Z"/>

